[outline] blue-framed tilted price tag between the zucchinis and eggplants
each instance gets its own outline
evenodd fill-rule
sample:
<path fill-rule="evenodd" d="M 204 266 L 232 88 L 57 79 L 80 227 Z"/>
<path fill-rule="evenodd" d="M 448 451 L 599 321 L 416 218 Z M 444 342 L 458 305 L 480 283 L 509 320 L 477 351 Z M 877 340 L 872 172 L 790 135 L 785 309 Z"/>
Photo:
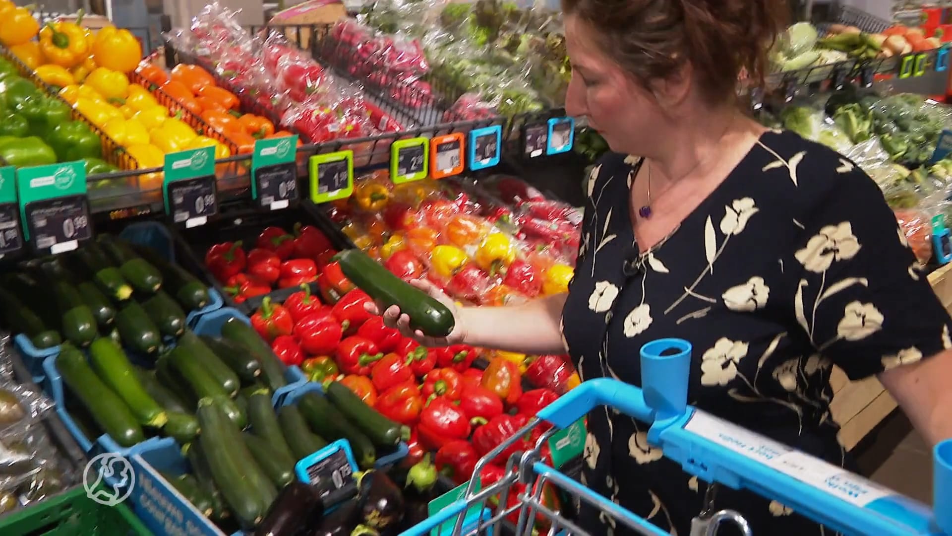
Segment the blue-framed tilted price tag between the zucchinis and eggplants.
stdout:
<path fill-rule="evenodd" d="M 338 440 L 294 465 L 294 474 L 317 489 L 325 506 L 347 501 L 357 495 L 353 474 L 357 471 L 347 440 Z"/>

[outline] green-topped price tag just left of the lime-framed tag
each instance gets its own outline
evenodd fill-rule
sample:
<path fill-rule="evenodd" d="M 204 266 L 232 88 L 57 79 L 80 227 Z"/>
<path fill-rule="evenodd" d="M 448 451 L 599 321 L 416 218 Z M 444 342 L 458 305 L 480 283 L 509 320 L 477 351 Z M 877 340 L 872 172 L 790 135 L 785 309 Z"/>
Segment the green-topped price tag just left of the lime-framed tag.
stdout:
<path fill-rule="evenodd" d="M 254 142 L 251 198 L 264 209 L 286 209 L 300 197 L 294 159 L 297 140 L 296 135 L 289 135 Z"/>

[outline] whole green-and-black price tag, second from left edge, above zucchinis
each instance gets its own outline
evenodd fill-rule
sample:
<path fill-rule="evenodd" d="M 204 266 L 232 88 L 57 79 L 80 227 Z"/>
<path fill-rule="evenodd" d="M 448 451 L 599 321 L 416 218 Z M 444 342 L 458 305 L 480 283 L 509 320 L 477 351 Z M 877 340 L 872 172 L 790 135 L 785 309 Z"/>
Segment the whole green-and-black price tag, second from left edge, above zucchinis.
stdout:
<path fill-rule="evenodd" d="M 83 162 L 21 168 L 16 173 L 16 191 L 24 237 L 36 253 L 72 251 L 92 237 Z"/>

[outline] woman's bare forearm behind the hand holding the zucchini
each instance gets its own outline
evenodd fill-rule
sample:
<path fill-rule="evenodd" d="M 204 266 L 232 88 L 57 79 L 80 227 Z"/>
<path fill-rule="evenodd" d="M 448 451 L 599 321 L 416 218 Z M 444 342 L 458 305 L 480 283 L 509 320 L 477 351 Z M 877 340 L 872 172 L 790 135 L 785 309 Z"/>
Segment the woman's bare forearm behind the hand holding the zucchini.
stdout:
<path fill-rule="evenodd" d="M 505 307 L 464 307 L 466 344 L 521 354 L 564 354 L 562 308 L 567 294 Z"/>

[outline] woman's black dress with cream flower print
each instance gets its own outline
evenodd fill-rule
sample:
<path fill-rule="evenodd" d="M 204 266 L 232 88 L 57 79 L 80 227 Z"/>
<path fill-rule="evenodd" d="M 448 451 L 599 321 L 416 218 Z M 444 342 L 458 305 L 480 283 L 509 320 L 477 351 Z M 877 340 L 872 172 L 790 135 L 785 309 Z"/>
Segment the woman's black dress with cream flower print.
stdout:
<path fill-rule="evenodd" d="M 852 468 L 830 415 L 831 367 L 860 380 L 952 347 L 949 316 L 877 185 L 822 145 L 771 131 L 669 237 L 639 253 L 628 202 L 640 164 L 607 155 L 587 184 L 563 313 L 583 379 L 639 385 L 643 344 L 688 340 L 688 403 Z M 581 479 L 682 535 L 707 486 L 649 445 L 644 423 L 603 408 L 588 416 Z M 755 534 L 833 532 L 724 486 L 715 506 L 742 512 Z M 628 533 L 584 504 L 579 518 L 592 534 Z"/>

